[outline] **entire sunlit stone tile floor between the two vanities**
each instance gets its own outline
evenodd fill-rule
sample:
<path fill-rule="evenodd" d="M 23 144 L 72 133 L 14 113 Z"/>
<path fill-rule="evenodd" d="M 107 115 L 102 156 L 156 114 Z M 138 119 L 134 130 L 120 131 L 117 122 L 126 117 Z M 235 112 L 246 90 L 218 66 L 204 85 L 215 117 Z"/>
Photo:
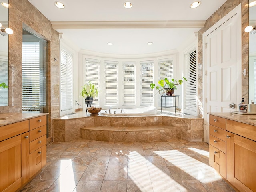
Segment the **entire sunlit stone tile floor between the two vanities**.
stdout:
<path fill-rule="evenodd" d="M 234 192 L 209 166 L 209 145 L 170 139 L 47 146 L 47 164 L 21 192 Z"/>

